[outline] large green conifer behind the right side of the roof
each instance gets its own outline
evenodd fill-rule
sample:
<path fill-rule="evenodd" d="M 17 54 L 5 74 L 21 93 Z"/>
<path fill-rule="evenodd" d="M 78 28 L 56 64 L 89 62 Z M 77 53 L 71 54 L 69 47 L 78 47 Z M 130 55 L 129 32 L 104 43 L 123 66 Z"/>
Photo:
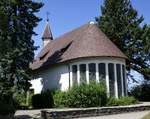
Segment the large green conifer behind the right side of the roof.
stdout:
<path fill-rule="evenodd" d="M 128 71 L 150 79 L 150 27 L 143 23 L 143 16 L 130 0 L 104 0 L 101 11 L 98 26 L 129 58 Z"/>

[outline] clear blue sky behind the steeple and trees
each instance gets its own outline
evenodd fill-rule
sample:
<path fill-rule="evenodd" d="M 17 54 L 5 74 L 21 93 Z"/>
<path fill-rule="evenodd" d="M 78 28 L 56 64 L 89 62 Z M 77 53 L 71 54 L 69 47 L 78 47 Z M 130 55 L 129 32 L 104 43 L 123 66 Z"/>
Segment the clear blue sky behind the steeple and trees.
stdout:
<path fill-rule="evenodd" d="M 35 28 L 38 36 L 33 37 L 36 46 L 41 49 L 41 36 L 46 22 L 46 12 L 49 12 L 50 26 L 54 38 L 79 27 L 89 21 L 94 21 L 101 15 L 100 6 L 103 0 L 43 0 L 44 7 L 37 14 L 43 20 Z M 133 6 L 145 18 L 145 23 L 150 24 L 150 0 L 132 0 Z"/>

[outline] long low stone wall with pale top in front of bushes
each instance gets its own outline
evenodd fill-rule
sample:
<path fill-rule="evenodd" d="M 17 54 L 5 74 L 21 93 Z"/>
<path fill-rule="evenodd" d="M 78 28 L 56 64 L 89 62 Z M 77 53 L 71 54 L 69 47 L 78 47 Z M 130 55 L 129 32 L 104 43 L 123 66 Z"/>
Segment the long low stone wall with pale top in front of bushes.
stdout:
<path fill-rule="evenodd" d="M 150 110 L 150 105 L 42 110 L 42 119 L 71 119 Z"/>

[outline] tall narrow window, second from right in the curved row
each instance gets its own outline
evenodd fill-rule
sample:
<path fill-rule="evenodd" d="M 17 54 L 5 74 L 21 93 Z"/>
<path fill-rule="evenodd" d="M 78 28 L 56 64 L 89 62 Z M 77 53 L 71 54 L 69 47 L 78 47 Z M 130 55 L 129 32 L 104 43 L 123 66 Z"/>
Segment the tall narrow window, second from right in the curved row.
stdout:
<path fill-rule="evenodd" d="M 118 86 L 118 96 L 122 96 L 122 80 L 121 80 L 121 65 L 116 64 L 117 73 L 117 86 Z"/>

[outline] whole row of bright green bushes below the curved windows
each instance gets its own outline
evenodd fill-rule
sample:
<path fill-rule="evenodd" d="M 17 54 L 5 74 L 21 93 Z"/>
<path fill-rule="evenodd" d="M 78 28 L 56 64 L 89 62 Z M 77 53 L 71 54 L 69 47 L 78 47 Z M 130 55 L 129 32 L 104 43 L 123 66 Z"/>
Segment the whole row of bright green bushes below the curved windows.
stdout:
<path fill-rule="evenodd" d="M 54 94 L 55 107 L 100 107 L 136 104 L 134 97 L 107 98 L 106 87 L 103 83 L 82 83 L 67 92 L 56 91 Z"/>

